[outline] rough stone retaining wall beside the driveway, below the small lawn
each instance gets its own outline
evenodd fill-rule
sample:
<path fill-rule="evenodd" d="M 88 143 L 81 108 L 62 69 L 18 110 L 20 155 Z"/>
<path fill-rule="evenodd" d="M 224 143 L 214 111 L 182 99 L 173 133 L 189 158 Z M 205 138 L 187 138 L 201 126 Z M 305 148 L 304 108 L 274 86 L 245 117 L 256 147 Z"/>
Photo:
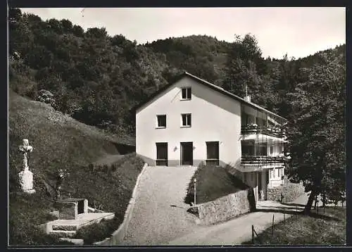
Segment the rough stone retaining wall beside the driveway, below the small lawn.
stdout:
<path fill-rule="evenodd" d="M 253 188 L 198 205 L 199 219 L 203 225 L 224 222 L 255 209 Z"/>

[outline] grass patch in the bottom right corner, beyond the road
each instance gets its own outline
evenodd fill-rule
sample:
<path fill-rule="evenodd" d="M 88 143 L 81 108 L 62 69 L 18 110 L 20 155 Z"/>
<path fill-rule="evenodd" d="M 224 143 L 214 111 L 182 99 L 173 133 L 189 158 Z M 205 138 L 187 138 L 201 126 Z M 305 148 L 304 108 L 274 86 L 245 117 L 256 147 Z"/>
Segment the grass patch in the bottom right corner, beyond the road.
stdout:
<path fill-rule="evenodd" d="M 346 243 L 346 208 L 327 207 L 325 213 L 294 215 L 265 229 L 254 239 L 254 244 L 264 245 L 342 245 Z M 252 244 L 246 241 L 243 244 Z"/>

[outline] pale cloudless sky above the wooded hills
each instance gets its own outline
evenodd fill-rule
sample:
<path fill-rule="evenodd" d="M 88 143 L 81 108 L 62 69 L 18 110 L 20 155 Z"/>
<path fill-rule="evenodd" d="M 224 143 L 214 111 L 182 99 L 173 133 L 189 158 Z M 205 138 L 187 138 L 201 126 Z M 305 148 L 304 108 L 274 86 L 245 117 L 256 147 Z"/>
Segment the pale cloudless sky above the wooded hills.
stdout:
<path fill-rule="evenodd" d="M 234 42 L 251 33 L 263 57 L 305 57 L 346 43 L 346 8 L 21 8 L 42 20 L 68 19 L 84 30 L 105 27 L 138 44 L 206 34 Z"/>

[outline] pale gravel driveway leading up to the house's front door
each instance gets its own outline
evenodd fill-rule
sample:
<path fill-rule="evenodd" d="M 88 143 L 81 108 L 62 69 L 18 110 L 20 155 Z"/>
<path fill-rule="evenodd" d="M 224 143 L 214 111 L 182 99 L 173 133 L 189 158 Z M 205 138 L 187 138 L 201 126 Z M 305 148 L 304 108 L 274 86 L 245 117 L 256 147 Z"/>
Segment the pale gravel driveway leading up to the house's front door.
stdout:
<path fill-rule="evenodd" d="M 193 167 L 149 167 L 139 182 L 136 204 L 122 244 L 164 245 L 196 228 L 184 203 Z"/>

